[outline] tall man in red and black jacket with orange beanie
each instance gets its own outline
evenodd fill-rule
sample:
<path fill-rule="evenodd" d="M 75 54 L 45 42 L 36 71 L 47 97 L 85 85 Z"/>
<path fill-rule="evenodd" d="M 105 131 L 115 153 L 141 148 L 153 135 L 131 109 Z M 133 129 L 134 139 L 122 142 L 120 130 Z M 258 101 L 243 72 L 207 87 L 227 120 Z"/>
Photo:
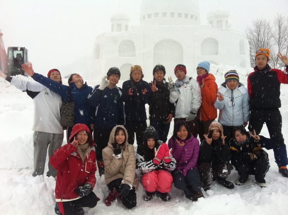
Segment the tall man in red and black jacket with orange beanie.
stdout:
<path fill-rule="evenodd" d="M 279 172 L 288 177 L 288 164 L 286 145 L 284 144 L 282 129 L 282 116 L 279 108 L 280 84 L 288 84 L 288 74 L 279 69 L 271 69 L 269 62 L 269 49 L 259 49 L 255 55 L 256 66 L 247 80 L 250 96 L 250 120 L 249 130 L 256 130 L 259 134 L 263 124 L 269 131 L 270 138 L 275 142 L 274 158 L 279 167 Z M 285 64 L 288 72 L 288 57 L 280 52 L 277 55 Z"/>

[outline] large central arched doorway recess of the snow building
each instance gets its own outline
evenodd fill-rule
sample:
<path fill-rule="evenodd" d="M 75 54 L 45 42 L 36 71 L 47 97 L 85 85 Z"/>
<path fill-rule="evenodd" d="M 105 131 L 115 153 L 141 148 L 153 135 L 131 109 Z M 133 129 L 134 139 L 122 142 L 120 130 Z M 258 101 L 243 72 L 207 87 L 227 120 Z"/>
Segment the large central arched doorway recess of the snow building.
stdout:
<path fill-rule="evenodd" d="M 166 77 L 174 77 L 175 66 L 183 64 L 183 46 L 171 39 L 164 39 L 156 43 L 153 49 L 153 68 L 157 64 L 165 66 Z"/>

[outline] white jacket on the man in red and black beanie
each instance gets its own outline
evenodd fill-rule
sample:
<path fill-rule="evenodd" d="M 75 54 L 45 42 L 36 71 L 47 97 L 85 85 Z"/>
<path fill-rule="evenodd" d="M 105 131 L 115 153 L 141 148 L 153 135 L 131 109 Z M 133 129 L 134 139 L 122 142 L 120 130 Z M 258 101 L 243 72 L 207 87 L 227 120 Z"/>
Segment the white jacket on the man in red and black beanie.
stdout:
<path fill-rule="evenodd" d="M 198 82 L 189 78 L 189 82 L 176 87 L 170 92 L 170 102 L 176 103 L 174 118 L 187 118 L 190 112 L 197 113 L 202 103 L 201 90 Z"/>

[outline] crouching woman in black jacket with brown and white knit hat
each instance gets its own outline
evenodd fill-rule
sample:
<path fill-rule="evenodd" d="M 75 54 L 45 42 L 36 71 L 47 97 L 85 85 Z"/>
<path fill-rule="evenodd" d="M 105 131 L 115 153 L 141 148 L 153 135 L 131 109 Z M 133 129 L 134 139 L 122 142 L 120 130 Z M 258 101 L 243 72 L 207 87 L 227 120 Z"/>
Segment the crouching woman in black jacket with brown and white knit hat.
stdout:
<path fill-rule="evenodd" d="M 213 179 L 217 179 L 219 184 L 228 189 L 234 188 L 234 184 L 226 181 L 233 166 L 230 163 L 229 146 L 224 141 L 222 125 L 213 121 L 209 126 L 208 136 L 204 134 L 204 137 L 205 140 L 201 143 L 198 158 L 198 169 L 203 182 L 203 189 L 209 190 L 212 187 Z"/>

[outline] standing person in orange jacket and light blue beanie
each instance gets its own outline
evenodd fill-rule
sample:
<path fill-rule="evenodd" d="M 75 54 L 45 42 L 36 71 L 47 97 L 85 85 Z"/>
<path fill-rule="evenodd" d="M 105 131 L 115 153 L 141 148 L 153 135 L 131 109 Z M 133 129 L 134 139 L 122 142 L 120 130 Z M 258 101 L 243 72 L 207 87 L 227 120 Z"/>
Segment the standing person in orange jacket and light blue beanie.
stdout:
<path fill-rule="evenodd" d="M 217 99 L 218 87 L 214 75 L 209 71 L 210 63 L 208 61 L 202 61 L 197 65 L 197 82 L 202 96 L 202 104 L 196 116 L 200 142 L 205 139 L 204 134 L 208 134 L 210 124 L 217 118 L 217 109 L 214 107 L 214 102 Z"/>

